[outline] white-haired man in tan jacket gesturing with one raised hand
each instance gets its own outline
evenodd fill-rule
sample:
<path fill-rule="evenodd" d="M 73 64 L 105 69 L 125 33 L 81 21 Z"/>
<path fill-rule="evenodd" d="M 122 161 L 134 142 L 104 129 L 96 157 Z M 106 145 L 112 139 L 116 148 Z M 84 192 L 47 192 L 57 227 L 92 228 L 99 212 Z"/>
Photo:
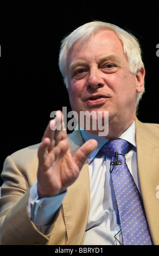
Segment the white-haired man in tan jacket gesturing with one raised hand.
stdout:
<path fill-rule="evenodd" d="M 109 112 L 109 129 L 99 136 L 79 118 L 67 136 L 58 111 L 40 144 L 5 160 L 1 244 L 158 245 L 159 126 L 136 118 L 145 76 L 136 38 L 86 23 L 63 39 L 59 66 L 73 111 L 100 112 L 103 124 Z"/>

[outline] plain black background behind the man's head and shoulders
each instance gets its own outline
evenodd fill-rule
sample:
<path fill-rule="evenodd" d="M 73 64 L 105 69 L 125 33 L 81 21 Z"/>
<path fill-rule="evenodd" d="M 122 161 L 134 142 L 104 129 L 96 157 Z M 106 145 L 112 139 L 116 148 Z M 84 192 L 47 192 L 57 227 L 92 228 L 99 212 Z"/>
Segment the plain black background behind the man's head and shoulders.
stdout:
<path fill-rule="evenodd" d="M 138 38 L 146 69 L 138 118 L 159 123 L 157 1 L 6 0 L 0 11 L 0 170 L 9 154 L 41 141 L 50 112 L 71 110 L 58 67 L 60 41 L 92 20 L 114 23 Z"/>

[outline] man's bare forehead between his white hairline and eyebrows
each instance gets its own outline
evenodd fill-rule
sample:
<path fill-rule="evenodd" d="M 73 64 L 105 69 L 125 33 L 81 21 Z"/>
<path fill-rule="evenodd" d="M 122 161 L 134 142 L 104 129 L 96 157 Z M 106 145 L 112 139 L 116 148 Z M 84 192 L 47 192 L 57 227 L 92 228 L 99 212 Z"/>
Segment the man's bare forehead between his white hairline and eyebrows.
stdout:
<path fill-rule="evenodd" d="M 114 55 L 125 57 L 123 42 L 118 38 L 115 32 L 110 30 L 97 31 L 91 38 L 83 44 L 80 40 L 74 42 L 71 50 L 68 52 L 68 64 L 76 59 L 89 59 L 91 56 L 100 58 L 103 56 Z"/>

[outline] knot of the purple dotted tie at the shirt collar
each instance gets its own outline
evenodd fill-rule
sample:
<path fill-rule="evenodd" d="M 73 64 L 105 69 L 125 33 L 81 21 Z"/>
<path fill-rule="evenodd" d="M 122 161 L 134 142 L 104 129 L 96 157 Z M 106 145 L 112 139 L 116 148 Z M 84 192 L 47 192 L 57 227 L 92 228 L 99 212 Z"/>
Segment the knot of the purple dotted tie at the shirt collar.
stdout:
<path fill-rule="evenodd" d="M 111 141 L 104 144 L 101 148 L 101 152 L 110 157 L 115 156 L 115 153 L 125 155 L 130 148 L 130 143 L 124 139 L 112 139 Z"/>

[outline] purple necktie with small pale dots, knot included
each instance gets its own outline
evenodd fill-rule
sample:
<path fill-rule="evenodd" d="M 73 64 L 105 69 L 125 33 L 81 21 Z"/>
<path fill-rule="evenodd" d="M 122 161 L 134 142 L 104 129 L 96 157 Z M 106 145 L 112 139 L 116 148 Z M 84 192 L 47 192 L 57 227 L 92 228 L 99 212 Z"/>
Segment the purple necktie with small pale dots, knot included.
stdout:
<path fill-rule="evenodd" d="M 101 151 L 112 157 L 110 173 L 115 191 L 123 245 L 151 245 L 147 220 L 145 220 L 142 199 L 125 162 L 130 143 L 124 139 L 107 142 Z"/>

